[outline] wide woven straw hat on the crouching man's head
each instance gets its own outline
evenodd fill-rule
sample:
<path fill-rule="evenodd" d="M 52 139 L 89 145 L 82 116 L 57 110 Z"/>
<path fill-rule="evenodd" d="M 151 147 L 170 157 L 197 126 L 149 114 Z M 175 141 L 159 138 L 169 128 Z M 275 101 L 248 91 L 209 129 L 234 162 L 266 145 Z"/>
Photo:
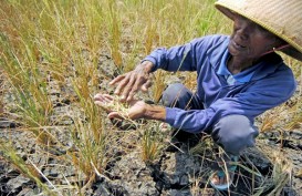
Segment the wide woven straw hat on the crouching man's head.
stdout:
<path fill-rule="evenodd" d="M 291 47 L 285 54 L 302 61 L 302 0 L 218 0 L 216 8 L 233 19 L 233 12 L 261 25 Z"/>

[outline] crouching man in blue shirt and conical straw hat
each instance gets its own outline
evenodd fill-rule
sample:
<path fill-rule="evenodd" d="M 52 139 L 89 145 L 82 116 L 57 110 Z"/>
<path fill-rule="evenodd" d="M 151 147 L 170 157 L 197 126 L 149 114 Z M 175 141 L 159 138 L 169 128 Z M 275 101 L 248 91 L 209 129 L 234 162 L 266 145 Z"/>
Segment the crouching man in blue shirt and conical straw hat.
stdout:
<path fill-rule="evenodd" d="M 158 120 L 188 133 L 209 133 L 228 154 L 228 169 L 214 171 L 210 183 L 229 188 L 235 162 L 242 149 L 254 145 L 259 131 L 254 117 L 287 100 L 295 91 L 293 73 L 275 51 L 302 61 L 301 0 L 219 0 L 216 8 L 233 21 L 231 35 L 207 35 L 191 42 L 157 49 L 137 68 L 115 78 L 115 94 L 132 107 L 131 118 Z M 134 100 L 147 91 L 149 75 L 158 69 L 196 71 L 197 91 L 180 83 L 163 93 L 164 106 Z M 112 96 L 98 93 L 104 105 Z M 110 111 L 108 117 L 121 117 Z"/>

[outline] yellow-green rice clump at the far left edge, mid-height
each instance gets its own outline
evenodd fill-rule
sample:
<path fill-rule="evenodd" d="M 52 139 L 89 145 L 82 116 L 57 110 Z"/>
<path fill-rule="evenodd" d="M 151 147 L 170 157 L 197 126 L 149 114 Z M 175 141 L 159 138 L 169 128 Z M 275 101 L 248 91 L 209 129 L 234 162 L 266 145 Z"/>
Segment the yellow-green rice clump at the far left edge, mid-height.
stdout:
<path fill-rule="evenodd" d="M 3 39 L 1 39 L 2 45 Z M 4 45 L 4 49 L 9 49 Z M 22 122 L 28 126 L 45 125 L 48 123 L 48 115 L 52 112 L 52 103 L 48 97 L 46 81 L 41 79 L 40 71 L 35 66 L 37 62 L 30 56 L 30 51 L 27 51 L 29 64 L 21 63 L 22 61 L 13 53 L 13 51 L 6 51 L 7 56 L 12 60 L 3 62 L 6 78 L 9 79 L 13 86 L 13 97 L 17 102 L 17 110 L 21 112 L 19 115 Z M 6 59 L 4 59 L 6 60 Z"/>

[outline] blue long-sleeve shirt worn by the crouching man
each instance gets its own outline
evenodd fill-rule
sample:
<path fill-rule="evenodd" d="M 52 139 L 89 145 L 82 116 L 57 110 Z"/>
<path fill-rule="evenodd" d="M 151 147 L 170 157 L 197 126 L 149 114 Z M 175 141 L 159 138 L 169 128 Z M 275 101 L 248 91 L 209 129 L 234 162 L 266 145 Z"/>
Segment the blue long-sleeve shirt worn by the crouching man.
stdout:
<path fill-rule="evenodd" d="M 244 115 L 253 122 L 294 93 L 293 73 L 277 53 L 269 54 L 246 74 L 232 75 L 238 76 L 237 82 L 229 84 L 226 68 L 221 68 L 229 41 L 227 35 L 208 35 L 168 50 L 157 49 L 144 59 L 154 63 L 153 71 L 197 71 L 196 93 L 205 110 L 166 107 L 166 122 L 173 127 L 198 133 L 231 114 Z"/>

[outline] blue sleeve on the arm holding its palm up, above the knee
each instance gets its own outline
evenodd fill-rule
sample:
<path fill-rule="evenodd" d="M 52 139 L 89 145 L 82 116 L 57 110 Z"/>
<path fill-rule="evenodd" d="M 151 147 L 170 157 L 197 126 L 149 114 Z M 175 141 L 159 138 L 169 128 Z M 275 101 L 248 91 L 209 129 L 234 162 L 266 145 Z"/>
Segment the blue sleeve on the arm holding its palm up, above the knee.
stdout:
<path fill-rule="evenodd" d="M 254 117 L 289 100 L 296 89 L 290 69 L 251 83 L 233 97 L 222 97 L 205 110 L 185 111 L 166 107 L 166 122 L 173 127 L 198 133 L 211 128 L 221 117 L 232 114 Z"/>

